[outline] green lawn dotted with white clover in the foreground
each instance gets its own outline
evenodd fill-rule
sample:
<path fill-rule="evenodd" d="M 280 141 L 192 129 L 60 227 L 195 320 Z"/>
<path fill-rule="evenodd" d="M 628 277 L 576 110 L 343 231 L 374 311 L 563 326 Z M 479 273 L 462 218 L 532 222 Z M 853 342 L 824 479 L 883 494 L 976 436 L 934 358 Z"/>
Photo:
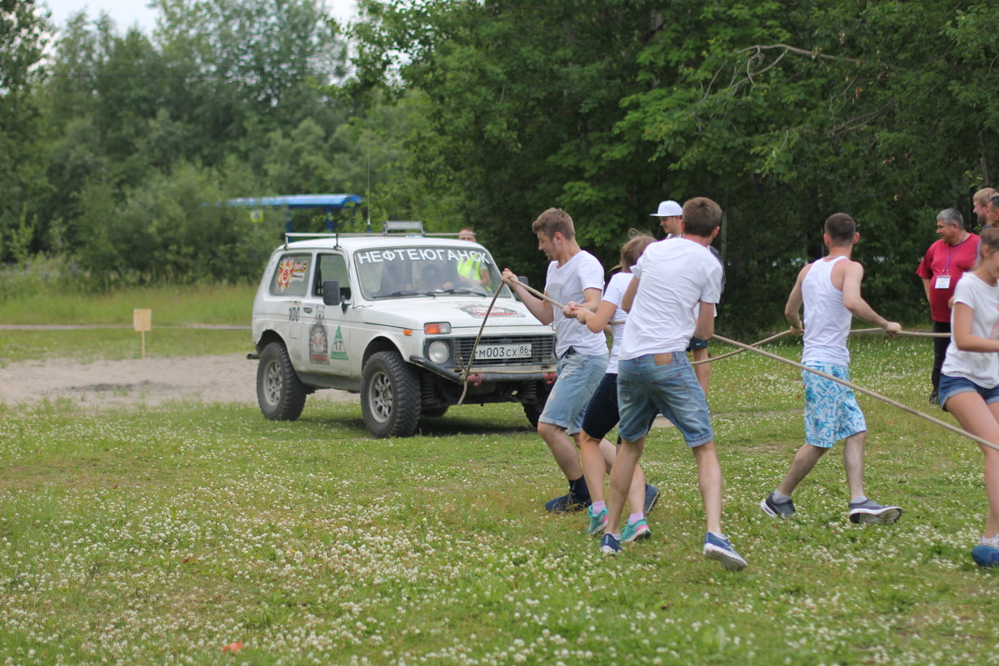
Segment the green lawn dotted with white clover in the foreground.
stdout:
<path fill-rule="evenodd" d="M 859 339 L 854 381 L 921 408 L 930 349 Z M 796 370 L 748 353 L 713 368 L 737 574 L 700 555 L 672 429 L 642 461 L 663 491 L 652 539 L 605 559 L 584 516 L 545 515 L 564 482 L 513 405 L 455 408 L 406 440 L 371 439 L 357 406 L 325 402 L 294 423 L 237 404 L 0 409 L 0 660 L 997 661 L 999 578 L 969 556 L 977 447 L 861 398 L 868 494 L 901 522 L 846 520 L 838 448 L 778 522 L 758 503 L 801 442 L 800 393 Z"/>

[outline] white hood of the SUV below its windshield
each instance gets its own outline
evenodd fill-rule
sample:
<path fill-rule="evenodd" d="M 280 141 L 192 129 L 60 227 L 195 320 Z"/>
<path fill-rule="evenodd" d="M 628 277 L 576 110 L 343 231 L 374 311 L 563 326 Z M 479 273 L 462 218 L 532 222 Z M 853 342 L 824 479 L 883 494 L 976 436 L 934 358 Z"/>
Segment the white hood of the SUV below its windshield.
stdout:
<path fill-rule="evenodd" d="M 504 327 L 540 328 L 543 325 L 534 319 L 523 303 L 512 299 L 496 302 L 490 311 L 490 298 L 458 298 L 454 296 L 438 298 L 409 298 L 392 301 L 378 301 L 365 308 L 364 319 L 372 324 L 397 326 L 400 328 L 422 329 L 427 322 L 449 322 L 453 332 L 461 329 L 478 331 L 483 319 L 489 313 L 488 329 Z M 549 327 L 544 327 L 548 328 Z"/>

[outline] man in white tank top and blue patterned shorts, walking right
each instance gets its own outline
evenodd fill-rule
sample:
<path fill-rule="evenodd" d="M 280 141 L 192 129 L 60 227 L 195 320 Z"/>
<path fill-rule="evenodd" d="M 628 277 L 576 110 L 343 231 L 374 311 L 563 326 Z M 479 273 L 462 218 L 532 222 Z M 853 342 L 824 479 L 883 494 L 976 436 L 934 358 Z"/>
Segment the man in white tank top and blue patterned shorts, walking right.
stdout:
<path fill-rule="evenodd" d="M 902 327 L 874 312 L 860 295 L 864 268 L 850 259 L 853 245 L 860 240 L 853 218 L 845 213 L 830 216 L 825 221 L 823 240 L 829 254 L 798 273 L 784 306 L 784 316 L 791 332 L 796 335 L 804 332 L 802 365 L 849 381 L 850 352 L 846 338 L 852 318 L 874 324 L 892 337 Z M 804 324 L 799 316 L 802 304 Z M 801 379 L 805 386 L 805 444 L 794 455 L 784 480 L 760 503 L 760 508 L 774 517 L 793 515 L 791 493 L 818 459 L 836 441 L 845 439 L 843 466 L 850 488 L 850 522 L 888 525 L 898 520 L 901 509 L 882 506 L 864 494 L 867 423 L 853 391 L 807 370 L 801 371 Z"/>

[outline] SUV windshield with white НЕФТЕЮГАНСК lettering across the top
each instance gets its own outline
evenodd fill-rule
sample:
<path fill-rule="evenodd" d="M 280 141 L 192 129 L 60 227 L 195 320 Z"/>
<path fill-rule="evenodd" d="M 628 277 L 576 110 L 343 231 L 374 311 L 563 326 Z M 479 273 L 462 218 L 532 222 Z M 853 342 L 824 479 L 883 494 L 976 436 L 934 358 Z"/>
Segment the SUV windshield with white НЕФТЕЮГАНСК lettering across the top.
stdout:
<path fill-rule="evenodd" d="M 500 271 L 481 247 L 398 247 L 354 255 L 361 291 L 368 299 L 404 296 L 492 296 Z M 503 288 L 503 298 L 512 298 Z"/>

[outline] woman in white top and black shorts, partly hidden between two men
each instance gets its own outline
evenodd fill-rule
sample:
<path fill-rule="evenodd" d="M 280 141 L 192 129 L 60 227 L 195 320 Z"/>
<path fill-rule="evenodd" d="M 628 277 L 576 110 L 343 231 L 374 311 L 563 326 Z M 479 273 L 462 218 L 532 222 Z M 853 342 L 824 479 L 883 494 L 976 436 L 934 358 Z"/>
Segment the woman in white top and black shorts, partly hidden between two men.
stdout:
<path fill-rule="evenodd" d="M 620 419 L 617 411 L 617 352 L 620 348 L 624 320 L 627 319 L 627 312 L 620 307 L 620 303 L 624 291 L 631 283 L 631 267 L 638 261 L 645 248 L 654 242 L 652 236 L 632 231 L 630 239 L 621 245 L 621 258 L 617 264 L 621 270 L 610 277 L 596 312 L 584 308 L 575 310 L 576 319 L 585 324 L 589 330 L 596 333 L 609 328 L 613 340 L 606 374 L 603 375 L 603 380 L 586 405 L 582 431 L 579 433 L 582 474 L 586 478 L 589 497 L 593 501 L 586 512 L 589 516 L 586 534 L 599 534 L 607 525 L 603 476 L 614 462 L 616 449 L 603 438 Z M 631 505 L 632 513 L 621 531 L 622 543 L 647 539 L 651 536 L 648 524 L 645 522 L 645 512 L 652 508 L 658 497 L 659 491 L 653 486 L 646 486 L 644 474 L 636 467 L 628 490 L 628 503 Z"/>

